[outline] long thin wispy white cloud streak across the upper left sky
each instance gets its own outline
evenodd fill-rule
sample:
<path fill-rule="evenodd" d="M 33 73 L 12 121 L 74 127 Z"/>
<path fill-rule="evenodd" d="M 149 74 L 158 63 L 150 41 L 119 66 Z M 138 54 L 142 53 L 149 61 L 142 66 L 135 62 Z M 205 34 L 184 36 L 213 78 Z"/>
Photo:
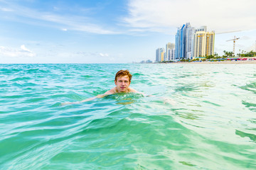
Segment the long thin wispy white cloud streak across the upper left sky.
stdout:
<path fill-rule="evenodd" d="M 79 30 L 87 33 L 96 33 L 96 34 L 119 34 L 119 31 L 110 30 L 108 28 L 103 28 L 102 26 L 93 23 L 92 18 L 88 18 L 85 16 L 79 15 L 58 15 L 49 11 L 36 11 L 33 8 L 27 8 L 25 6 L 18 6 L 16 4 L 9 4 L 11 8 L 13 8 L 13 14 L 16 15 L 16 20 L 18 22 L 29 23 L 29 24 L 40 24 L 45 26 L 50 26 L 54 28 L 58 28 L 60 30 Z M 4 11 L 7 8 L 0 8 L 0 10 Z M 54 8 L 56 9 L 56 8 Z M 19 19 L 29 18 L 28 19 Z M 33 21 L 33 20 L 36 21 Z M 48 23 L 38 23 L 38 21 L 46 21 Z M 64 27 L 64 28 L 63 28 Z M 63 28 L 63 29 L 62 29 Z"/>

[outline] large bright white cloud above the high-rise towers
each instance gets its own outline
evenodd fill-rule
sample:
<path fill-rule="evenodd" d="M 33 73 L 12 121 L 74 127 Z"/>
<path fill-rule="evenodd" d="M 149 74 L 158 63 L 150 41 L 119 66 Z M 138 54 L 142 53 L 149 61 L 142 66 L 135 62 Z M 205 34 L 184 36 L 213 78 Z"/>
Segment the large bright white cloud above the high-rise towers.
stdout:
<path fill-rule="evenodd" d="M 144 29 L 177 28 L 190 22 L 216 31 L 250 30 L 256 28 L 255 6 L 255 0 L 130 0 L 129 16 L 122 21 Z"/>

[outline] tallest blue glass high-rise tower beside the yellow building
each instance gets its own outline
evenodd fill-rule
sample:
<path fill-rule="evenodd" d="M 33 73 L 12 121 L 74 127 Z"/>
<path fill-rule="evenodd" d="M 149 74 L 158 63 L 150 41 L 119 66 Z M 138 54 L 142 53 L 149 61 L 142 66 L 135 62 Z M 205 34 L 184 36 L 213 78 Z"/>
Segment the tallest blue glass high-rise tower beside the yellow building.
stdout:
<path fill-rule="evenodd" d="M 195 28 L 190 23 L 183 24 L 176 33 L 175 60 L 188 59 L 193 57 L 193 34 Z"/>

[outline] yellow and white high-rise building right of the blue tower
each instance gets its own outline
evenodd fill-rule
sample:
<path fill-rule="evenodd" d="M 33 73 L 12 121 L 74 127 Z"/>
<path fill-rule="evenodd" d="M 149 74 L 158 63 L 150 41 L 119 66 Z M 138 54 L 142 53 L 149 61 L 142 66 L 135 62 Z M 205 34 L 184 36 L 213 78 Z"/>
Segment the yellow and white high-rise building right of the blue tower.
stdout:
<path fill-rule="evenodd" d="M 214 31 L 197 31 L 194 34 L 193 59 L 214 55 L 214 39 Z"/>

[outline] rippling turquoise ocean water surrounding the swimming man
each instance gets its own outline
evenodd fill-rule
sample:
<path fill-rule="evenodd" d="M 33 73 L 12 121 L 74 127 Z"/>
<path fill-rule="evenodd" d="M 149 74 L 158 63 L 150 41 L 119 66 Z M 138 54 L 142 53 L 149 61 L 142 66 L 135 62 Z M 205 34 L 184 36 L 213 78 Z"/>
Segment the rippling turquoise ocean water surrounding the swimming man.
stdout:
<path fill-rule="evenodd" d="M 119 69 L 151 96 L 60 106 Z M 0 64 L 0 135 L 0 169 L 256 169 L 256 64 Z"/>

